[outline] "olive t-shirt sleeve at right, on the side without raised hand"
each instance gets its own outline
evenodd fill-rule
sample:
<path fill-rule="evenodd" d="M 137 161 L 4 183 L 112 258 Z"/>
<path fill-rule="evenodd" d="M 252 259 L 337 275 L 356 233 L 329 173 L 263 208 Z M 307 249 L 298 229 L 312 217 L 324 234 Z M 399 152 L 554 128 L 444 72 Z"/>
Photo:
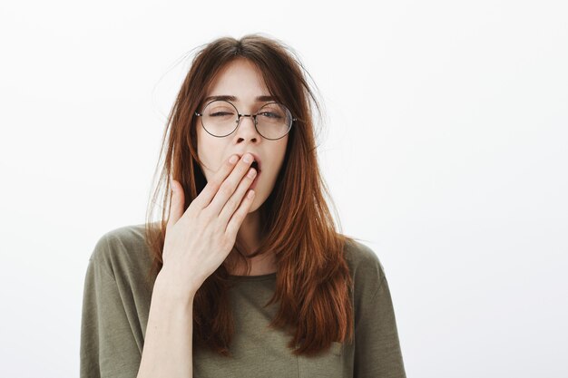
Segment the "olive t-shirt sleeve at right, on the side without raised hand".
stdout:
<path fill-rule="evenodd" d="M 406 378 L 387 277 L 380 263 L 377 267 L 380 272 L 377 289 L 360 304 L 354 377 Z"/>

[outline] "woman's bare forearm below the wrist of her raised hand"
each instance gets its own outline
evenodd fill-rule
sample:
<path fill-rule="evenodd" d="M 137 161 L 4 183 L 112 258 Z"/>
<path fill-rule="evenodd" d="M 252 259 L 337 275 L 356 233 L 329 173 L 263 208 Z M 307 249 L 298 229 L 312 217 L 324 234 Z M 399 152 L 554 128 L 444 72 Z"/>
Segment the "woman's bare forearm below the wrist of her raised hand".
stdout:
<path fill-rule="evenodd" d="M 193 295 L 175 300 L 156 282 L 137 378 L 193 377 Z"/>

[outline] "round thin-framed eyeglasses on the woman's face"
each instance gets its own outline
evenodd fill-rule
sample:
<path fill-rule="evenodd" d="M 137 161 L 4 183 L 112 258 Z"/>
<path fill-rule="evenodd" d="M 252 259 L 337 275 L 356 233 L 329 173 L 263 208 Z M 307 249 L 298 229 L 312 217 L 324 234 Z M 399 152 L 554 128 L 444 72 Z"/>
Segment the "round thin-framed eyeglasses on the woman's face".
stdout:
<path fill-rule="evenodd" d="M 235 105 L 224 100 L 209 102 L 201 113 L 201 126 L 214 137 L 226 137 L 237 130 L 241 117 L 251 117 L 254 127 L 263 138 L 271 141 L 284 138 L 289 133 L 292 122 L 292 113 L 288 108 L 278 102 L 264 104 L 255 114 L 240 114 Z"/>

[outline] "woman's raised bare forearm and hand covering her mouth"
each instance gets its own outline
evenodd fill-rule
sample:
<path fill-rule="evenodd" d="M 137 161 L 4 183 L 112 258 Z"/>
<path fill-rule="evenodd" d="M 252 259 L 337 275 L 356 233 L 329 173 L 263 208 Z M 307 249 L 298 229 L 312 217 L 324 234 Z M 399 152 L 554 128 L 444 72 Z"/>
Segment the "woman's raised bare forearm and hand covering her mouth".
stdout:
<path fill-rule="evenodd" d="M 138 378 L 193 376 L 193 298 L 230 254 L 254 199 L 248 189 L 256 173 L 253 157 L 247 153 L 237 165 L 232 157 L 188 208 L 180 183 L 171 180 L 163 267 L 154 283 Z"/>

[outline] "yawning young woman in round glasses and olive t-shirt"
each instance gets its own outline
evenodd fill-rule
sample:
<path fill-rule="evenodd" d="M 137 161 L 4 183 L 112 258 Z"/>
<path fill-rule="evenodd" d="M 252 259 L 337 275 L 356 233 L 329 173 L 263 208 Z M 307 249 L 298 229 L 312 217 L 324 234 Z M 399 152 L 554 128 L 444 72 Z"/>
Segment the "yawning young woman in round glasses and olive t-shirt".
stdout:
<path fill-rule="evenodd" d="M 151 206 L 93 250 L 81 377 L 406 376 L 384 269 L 324 199 L 304 73 L 259 34 L 196 54 L 160 220 Z"/>

